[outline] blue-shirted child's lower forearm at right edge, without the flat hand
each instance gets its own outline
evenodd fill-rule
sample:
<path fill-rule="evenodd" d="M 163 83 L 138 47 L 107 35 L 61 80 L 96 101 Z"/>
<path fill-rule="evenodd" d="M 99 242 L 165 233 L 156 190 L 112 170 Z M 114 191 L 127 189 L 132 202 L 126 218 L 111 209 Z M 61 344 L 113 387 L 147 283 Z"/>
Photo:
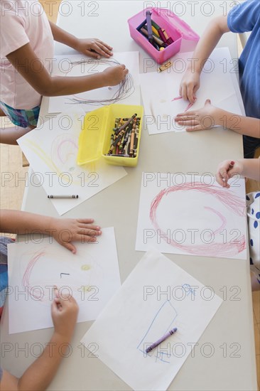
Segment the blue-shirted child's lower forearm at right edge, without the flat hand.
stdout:
<path fill-rule="evenodd" d="M 216 109 L 214 117 L 216 125 L 234 130 L 239 134 L 260 138 L 260 119 L 258 118 L 244 117 L 222 109 Z"/>

